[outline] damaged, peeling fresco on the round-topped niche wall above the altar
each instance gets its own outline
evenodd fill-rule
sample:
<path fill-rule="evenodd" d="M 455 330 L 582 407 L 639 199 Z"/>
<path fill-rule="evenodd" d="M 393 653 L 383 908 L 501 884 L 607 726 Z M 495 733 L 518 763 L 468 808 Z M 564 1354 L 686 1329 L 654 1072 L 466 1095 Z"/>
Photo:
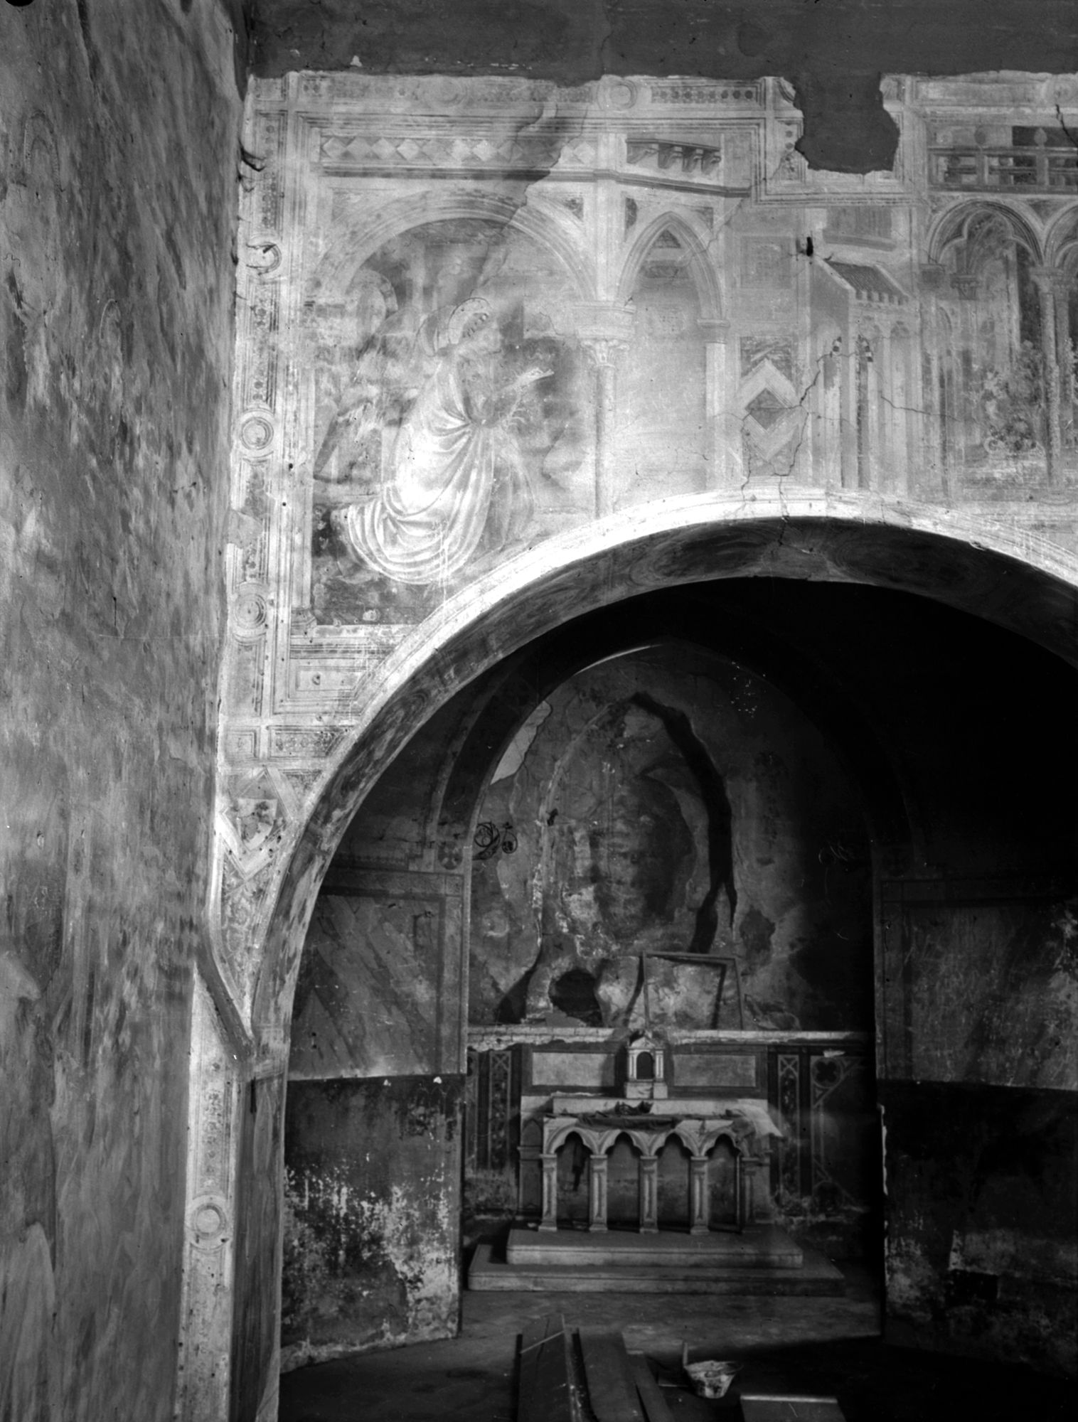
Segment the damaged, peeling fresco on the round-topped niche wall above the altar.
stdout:
<path fill-rule="evenodd" d="M 654 648 L 580 673 L 540 710 L 479 809 L 515 848 L 472 862 L 474 1024 L 631 1024 L 644 951 L 737 956 L 749 1027 L 869 1020 L 858 798 L 781 693 Z M 667 1025 L 738 1025 L 713 968 L 656 961 L 649 980 Z"/>

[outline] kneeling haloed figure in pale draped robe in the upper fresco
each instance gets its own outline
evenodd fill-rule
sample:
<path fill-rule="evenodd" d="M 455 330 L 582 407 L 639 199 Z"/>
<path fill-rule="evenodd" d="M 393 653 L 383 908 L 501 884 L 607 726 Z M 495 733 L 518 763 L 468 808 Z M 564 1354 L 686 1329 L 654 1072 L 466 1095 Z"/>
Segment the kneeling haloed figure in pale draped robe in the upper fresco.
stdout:
<path fill-rule="evenodd" d="M 448 582 L 479 552 L 519 536 L 532 495 L 515 425 L 526 392 L 553 374 L 505 378 L 489 301 L 469 297 L 424 333 L 425 377 L 388 452 L 381 489 L 333 525 L 368 569 L 401 583 Z"/>

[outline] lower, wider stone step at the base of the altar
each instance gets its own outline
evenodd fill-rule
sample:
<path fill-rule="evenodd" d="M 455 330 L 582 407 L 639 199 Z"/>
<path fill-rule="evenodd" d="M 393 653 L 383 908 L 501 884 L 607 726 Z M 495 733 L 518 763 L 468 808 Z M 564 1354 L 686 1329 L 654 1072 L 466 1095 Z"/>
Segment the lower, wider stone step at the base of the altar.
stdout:
<path fill-rule="evenodd" d="M 530 1231 L 529 1231 L 530 1233 Z M 566 1294 L 845 1294 L 842 1273 L 818 1250 L 801 1250 L 799 1268 L 771 1266 L 656 1264 L 509 1264 L 481 1244 L 468 1270 L 468 1288 Z"/>

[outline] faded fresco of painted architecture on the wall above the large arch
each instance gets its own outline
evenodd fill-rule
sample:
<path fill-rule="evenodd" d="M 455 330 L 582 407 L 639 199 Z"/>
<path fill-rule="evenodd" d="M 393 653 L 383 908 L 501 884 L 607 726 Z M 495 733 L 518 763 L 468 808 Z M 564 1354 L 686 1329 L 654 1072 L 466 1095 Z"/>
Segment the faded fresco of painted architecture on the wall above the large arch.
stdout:
<path fill-rule="evenodd" d="M 850 176 L 806 168 L 782 81 L 259 81 L 247 619 L 276 572 L 377 657 L 515 553 L 671 495 L 1065 498 L 1078 84 L 885 97 L 895 171 Z M 301 496 L 274 570 L 277 461 Z"/>

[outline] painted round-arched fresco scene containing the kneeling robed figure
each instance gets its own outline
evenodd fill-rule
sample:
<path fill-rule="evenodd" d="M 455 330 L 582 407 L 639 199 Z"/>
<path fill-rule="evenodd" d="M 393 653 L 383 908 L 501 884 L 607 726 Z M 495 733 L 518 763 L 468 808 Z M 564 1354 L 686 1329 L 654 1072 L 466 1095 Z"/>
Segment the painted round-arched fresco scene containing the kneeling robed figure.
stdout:
<path fill-rule="evenodd" d="M 319 621 L 420 621 L 587 515 L 572 283 L 539 243 L 486 218 L 429 222 L 313 284 Z"/>

